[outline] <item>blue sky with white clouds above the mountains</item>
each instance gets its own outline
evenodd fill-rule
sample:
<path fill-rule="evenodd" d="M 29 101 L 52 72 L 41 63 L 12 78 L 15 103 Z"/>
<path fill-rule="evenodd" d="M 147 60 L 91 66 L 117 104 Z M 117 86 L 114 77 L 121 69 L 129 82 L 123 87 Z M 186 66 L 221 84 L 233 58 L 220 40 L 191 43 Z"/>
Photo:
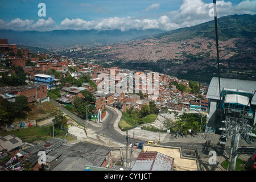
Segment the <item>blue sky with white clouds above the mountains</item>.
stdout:
<path fill-rule="evenodd" d="M 45 6 L 39 6 L 44 3 Z M 0 0 L 0 29 L 164 31 L 213 20 L 212 0 Z M 256 14 L 256 0 L 216 1 L 217 18 Z"/>

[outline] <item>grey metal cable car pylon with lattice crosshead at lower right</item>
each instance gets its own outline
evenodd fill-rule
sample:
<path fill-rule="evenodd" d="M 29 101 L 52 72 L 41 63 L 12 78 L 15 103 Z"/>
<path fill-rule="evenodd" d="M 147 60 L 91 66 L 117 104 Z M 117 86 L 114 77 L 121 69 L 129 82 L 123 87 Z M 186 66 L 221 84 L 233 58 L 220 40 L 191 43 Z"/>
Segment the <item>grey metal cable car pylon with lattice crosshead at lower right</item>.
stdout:
<path fill-rule="evenodd" d="M 225 137 L 226 139 L 232 135 L 231 148 L 230 148 L 230 170 L 236 170 L 237 150 L 239 145 L 240 135 L 250 135 L 253 127 L 247 125 L 247 119 L 234 118 L 226 116 L 225 123 Z"/>

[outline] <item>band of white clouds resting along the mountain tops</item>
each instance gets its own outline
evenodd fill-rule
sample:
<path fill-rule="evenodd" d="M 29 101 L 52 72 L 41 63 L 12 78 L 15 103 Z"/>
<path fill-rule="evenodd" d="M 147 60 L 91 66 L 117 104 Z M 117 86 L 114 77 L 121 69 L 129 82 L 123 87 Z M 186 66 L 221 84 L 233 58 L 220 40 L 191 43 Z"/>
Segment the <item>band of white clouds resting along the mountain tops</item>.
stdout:
<path fill-rule="evenodd" d="M 148 28 L 159 28 L 162 30 L 175 30 L 181 27 L 193 26 L 195 24 L 204 23 L 213 20 L 209 16 L 209 11 L 212 9 L 212 3 L 205 3 L 203 0 L 183 0 L 179 10 L 170 11 L 162 14 L 157 19 L 135 19 L 130 16 L 127 17 L 110 17 L 102 20 L 84 19 L 68 19 L 65 18 L 59 25 L 56 25 L 52 18 L 38 19 L 36 23 L 33 20 L 22 20 L 16 18 L 10 22 L 5 22 L 0 19 L 1 29 L 10 30 L 114 30 L 127 31 L 130 29 L 146 30 Z M 244 0 L 238 5 L 234 6 L 230 1 L 217 1 L 217 17 L 230 15 L 230 14 L 256 14 L 256 0 Z M 87 6 L 87 5 L 86 5 Z M 160 4 L 152 4 L 144 11 L 159 9 Z"/>

